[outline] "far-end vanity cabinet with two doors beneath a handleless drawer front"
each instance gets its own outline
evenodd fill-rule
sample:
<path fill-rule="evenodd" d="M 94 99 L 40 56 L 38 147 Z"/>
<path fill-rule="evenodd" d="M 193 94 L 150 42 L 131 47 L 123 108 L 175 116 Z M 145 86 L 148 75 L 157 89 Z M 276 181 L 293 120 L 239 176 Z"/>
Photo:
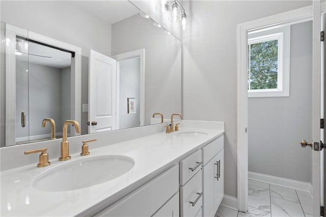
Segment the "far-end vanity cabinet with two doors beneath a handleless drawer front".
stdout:
<path fill-rule="evenodd" d="M 224 197 L 223 135 L 202 148 L 203 216 L 214 216 Z"/>

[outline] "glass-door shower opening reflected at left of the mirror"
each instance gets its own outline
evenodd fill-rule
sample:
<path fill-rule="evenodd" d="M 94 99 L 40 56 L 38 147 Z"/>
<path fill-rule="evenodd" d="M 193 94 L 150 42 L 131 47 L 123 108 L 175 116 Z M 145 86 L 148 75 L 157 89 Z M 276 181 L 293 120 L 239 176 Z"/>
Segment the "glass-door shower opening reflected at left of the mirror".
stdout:
<path fill-rule="evenodd" d="M 70 119 L 71 58 L 74 53 L 16 37 L 16 144 L 47 140 L 56 123 L 61 138 L 63 122 Z M 21 124 L 23 115 L 24 124 Z M 68 129 L 68 133 L 70 130 Z"/>

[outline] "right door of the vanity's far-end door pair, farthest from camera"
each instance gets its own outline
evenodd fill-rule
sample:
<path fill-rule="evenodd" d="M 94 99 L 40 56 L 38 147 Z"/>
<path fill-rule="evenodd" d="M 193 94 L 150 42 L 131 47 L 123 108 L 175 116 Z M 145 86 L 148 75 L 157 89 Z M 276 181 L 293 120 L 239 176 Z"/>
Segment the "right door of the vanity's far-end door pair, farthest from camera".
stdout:
<path fill-rule="evenodd" d="M 213 158 L 214 168 L 218 171 L 218 177 L 214 178 L 214 210 L 218 210 L 222 199 L 224 197 L 224 149 L 222 149 L 216 156 Z"/>

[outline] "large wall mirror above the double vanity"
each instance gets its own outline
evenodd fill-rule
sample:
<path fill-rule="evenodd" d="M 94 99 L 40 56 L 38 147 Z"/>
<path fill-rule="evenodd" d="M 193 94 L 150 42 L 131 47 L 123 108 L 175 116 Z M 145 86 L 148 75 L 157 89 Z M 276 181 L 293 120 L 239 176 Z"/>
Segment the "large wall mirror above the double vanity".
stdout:
<path fill-rule="evenodd" d="M 46 121 L 42 127 L 44 118 L 55 120 L 58 139 L 67 119 L 79 119 L 80 133 L 68 129 L 68 135 L 73 136 L 148 125 L 157 112 L 164 114 L 165 119 L 172 113 L 181 113 L 181 42 L 158 28 L 157 22 L 141 14 L 130 2 L 1 1 L 0 4 L 1 147 L 51 139 L 51 124 Z M 12 38 L 12 49 L 21 53 L 11 54 L 15 59 L 12 69 L 6 59 L 9 25 L 21 31 Z M 36 40 L 35 36 L 40 38 Z M 48 39 L 46 43 L 44 38 Z M 52 42 L 69 46 L 58 49 L 61 45 L 53 46 Z M 98 83 L 101 78 L 96 73 L 100 72 L 95 68 L 95 74 L 90 73 L 94 69 L 92 61 L 95 60 L 96 66 L 94 53 L 113 60 L 117 69 L 113 72 L 116 80 L 111 80 L 116 84 L 111 93 L 115 100 L 109 97 L 114 110 L 103 113 L 115 115 L 115 123 L 104 130 L 99 123 L 92 125 L 97 120 L 89 118 L 92 109 L 98 112 L 110 107 L 105 100 L 109 94 L 101 89 L 105 82 Z M 6 76 L 9 71 L 11 81 Z M 89 82 L 92 78 L 96 78 L 96 83 Z M 13 98 L 8 95 L 9 87 L 15 93 Z M 89 104 L 92 91 L 97 101 Z M 14 109 L 9 110 L 9 105 Z M 10 113 L 13 119 L 9 120 Z M 157 123 L 156 120 L 152 123 Z M 96 126 L 98 129 L 92 130 Z M 10 131 L 15 132 L 11 140 Z"/>

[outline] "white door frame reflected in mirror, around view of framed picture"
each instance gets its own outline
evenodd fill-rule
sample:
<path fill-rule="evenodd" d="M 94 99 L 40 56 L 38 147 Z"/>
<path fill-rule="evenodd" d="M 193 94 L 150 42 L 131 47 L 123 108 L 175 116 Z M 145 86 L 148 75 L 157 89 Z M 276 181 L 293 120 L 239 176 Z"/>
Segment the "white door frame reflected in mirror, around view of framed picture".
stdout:
<path fill-rule="evenodd" d="M 125 53 L 112 56 L 117 60 L 117 129 L 119 129 L 119 94 L 120 94 L 120 67 L 119 61 L 130 58 L 140 58 L 140 126 L 145 125 L 145 48 L 139 50 L 132 50 Z"/>

